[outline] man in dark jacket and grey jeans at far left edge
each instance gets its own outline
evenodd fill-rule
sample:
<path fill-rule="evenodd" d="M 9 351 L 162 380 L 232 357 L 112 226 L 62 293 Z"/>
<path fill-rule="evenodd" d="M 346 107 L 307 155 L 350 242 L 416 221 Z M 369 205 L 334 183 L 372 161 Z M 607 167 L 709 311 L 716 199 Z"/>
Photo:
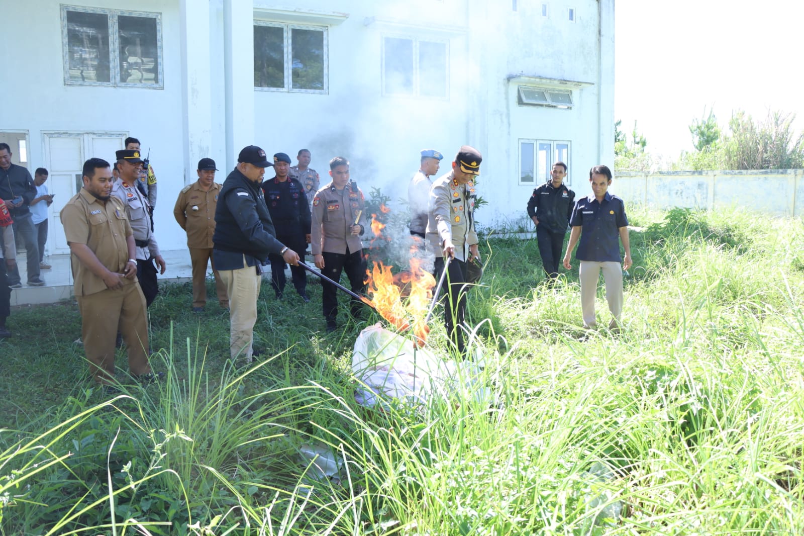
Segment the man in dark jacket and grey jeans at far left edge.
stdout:
<path fill-rule="evenodd" d="M 11 163 L 11 147 L 8 143 L 0 143 L 0 199 L 6 201 L 6 207 L 14 218 L 14 234 L 22 238 L 25 245 L 28 285 L 44 287 L 45 282 L 39 278 L 39 244 L 30 209 L 35 196 L 36 187 L 31 173 L 25 167 Z M 10 268 L 8 286 L 23 287 L 18 266 Z"/>

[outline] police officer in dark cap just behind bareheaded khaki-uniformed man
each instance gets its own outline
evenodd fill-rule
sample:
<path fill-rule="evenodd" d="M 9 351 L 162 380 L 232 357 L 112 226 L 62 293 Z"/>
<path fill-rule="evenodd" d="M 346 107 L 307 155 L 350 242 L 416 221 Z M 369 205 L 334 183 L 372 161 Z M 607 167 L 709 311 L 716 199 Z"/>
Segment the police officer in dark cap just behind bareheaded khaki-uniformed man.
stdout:
<path fill-rule="evenodd" d="M 138 150 L 118 150 L 117 172 L 120 179 L 112 186 L 112 195 L 123 200 L 125 213 L 129 217 L 131 229 L 134 233 L 134 244 L 137 245 L 137 252 L 134 258 L 137 259 L 137 279 L 142 287 L 142 293 L 146 296 L 146 305 L 154 302 L 154 298 L 159 292 L 156 278 L 156 267 L 159 273 L 165 273 L 165 259 L 159 253 L 159 246 L 154 237 L 154 229 L 151 224 L 151 211 L 148 200 L 137 189 L 137 177 L 142 169 L 142 159 Z"/>

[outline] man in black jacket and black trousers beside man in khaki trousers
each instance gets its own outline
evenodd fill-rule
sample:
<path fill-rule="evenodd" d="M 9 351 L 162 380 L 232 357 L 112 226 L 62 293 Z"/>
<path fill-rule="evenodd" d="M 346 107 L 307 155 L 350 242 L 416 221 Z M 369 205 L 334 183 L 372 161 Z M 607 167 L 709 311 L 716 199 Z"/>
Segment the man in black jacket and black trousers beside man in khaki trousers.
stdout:
<path fill-rule="evenodd" d="M 551 180 L 534 189 L 531 199 L 527 201 L 527 215 L 536 225 L 536 240 L 539 242 L 544 272 L 548 278 L 555 279 L 558 277 L 564 235 L 575 205 L 575 192 L 564 184 L 567 164 L 554 163 L 551 175 Z"/>

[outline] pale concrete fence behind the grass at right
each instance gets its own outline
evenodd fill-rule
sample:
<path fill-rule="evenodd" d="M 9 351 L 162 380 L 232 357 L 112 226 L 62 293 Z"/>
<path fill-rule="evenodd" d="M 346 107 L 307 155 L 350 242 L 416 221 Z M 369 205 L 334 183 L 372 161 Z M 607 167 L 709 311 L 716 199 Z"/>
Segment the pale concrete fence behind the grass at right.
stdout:
<path fill-rule="evenodd" d="M 611 191 L 628 204 L 651 208 L 745 207 L 776 216 L 804 216 L 802 169 L 620 171 L 614 173 Z"/>

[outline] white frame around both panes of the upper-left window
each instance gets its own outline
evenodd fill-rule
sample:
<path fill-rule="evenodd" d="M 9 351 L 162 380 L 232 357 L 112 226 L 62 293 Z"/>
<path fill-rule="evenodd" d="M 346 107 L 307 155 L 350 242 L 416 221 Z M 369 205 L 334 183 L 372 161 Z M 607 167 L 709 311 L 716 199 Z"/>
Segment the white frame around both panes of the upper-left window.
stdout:
<path fill-rule="evenodd" d="M 164 60 L 162 59 L 162 14 L 153 11 L 132 11 L 116 10 L 105 7 L 72 6 L 68 4 L 60 5 L 60 24 L 61 24 L 61 50 L 62 68 L 64 71 L 64 85 L 77 86 L 99 86 L 105 88 L 139 88 L 139 89 L 165 89 Z M 109 31 L 109 82 L 71 80 L 70 79 L 70 50 L 69 35 L 67 27 L 67 12 L 105 14 L 107 30 Z M 142 84 L 120 81 L 120 27 L 117 18 L 139 17 L 143 19 L 156 19 L 156 47 L 158 69 L 157 84 Z"/>

